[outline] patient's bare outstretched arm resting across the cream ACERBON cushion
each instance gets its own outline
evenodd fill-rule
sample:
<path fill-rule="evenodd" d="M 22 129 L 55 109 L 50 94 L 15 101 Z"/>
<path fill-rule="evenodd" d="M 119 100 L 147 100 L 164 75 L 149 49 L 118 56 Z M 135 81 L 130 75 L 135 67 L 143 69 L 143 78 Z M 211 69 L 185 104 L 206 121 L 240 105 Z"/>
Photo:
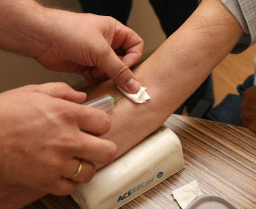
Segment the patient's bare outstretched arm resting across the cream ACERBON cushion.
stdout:
<path fill-rule="evenodd" d="M 219 0 L 203 1 L 195 13 L 135 69 L 136 78 L 147 87 L 151 99 L 145 104 L 135 104 L 122 97 L 108 112 L 111 128 L 101 137 L 115 142 L 116 157 L 155 131 L 201 85 L 242 36 L 241 26 Z M 105 93 L 122 96 L 109 80 L 98 85 L 88 100 Z M 95 166 L 98 169 L 103 164 L 95 163 Z M 17 196 L 24 197 L 25 191 L 29 194 L 26 188 L 19 189 Z M 32 196 L 23 199 L 23 205 L 42 196 L 40 192 L 38 196 L 35 191 L 31 193 Z M 9 206 L 21 205 L 14 202 L 13 196 L 8 203 Z"/>

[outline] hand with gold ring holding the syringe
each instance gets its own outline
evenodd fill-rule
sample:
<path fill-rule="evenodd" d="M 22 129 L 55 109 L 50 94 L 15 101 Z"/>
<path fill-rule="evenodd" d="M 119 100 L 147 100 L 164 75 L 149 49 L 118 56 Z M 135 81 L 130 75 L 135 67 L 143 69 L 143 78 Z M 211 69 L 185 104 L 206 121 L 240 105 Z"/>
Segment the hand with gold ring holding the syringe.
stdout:
<path fill-rule="evenodd" d="M 65 195 L 90 181 L 96 171 L 92 162 L 111 163 L 116 145 L 95 137 L 109 130 L 110 118 L 81 105 L 85 99 L 64 83 L 1 93 L 0 183 Z M 78 159 L 84 170 L 71 180 Z"/>

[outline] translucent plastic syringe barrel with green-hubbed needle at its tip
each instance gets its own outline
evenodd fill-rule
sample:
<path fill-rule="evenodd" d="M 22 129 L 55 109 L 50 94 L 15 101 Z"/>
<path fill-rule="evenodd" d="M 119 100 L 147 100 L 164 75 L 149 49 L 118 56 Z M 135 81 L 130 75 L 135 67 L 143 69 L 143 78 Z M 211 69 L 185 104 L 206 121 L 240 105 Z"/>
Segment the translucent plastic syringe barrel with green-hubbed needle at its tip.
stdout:
<path fill-rule="evenodd" d="M 114 99 L 109 94 L 105 94 L 102 97 L 95 98 L 93 100 L 90 100 L 84 103 L 84 105 L 89 107 L 94 107 L 96 109 L 100 109 L 103 111 L 109 111 L 114 108 L 115 106 L 114 103 L 115 103 Z"/>

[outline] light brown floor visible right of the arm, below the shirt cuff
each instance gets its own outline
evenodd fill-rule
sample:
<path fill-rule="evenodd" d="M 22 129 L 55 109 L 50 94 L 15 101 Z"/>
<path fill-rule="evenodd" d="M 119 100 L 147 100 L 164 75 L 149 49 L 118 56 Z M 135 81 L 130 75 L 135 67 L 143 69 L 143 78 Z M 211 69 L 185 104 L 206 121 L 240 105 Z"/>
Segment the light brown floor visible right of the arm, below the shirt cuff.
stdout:
<path fill-rule="evenodd" d="M 228 93 L 238 94 L 236 86 L 254 70 L 256 46 L 252 46 L 241 54 L 229 54 L 213 71 L 215 104 L 219 104 Z"/>

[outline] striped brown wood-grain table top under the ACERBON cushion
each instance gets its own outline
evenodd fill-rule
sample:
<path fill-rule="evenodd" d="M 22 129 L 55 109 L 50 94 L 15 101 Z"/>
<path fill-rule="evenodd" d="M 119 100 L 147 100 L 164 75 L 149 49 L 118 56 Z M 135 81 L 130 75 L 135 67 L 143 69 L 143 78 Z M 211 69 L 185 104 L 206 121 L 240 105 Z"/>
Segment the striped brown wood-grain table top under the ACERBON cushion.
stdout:
<path fill-rule="evenodd" d="M 122 208 L 179 208 L 171 191 L 197 180 L 203 194 L 227 198 L 239 209 L 256 208 L 256 134 L 248 129 L 172 115 L 186 168 Z M 70 196 L 47 195 L 26 209 L 76 209 Z"/>

